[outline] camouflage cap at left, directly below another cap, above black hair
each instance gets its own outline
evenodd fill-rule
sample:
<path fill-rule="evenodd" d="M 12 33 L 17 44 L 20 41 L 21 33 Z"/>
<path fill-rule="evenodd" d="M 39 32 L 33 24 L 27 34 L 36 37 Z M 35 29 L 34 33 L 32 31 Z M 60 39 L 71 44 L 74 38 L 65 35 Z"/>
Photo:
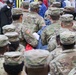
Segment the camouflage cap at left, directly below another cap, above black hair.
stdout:
<path fill-rule="evenodd" d="M 17 32 L 7 32 L 4 35 L 6 35 L 9 38 L 10 42 L 19 41 L 19 35 Z"/>

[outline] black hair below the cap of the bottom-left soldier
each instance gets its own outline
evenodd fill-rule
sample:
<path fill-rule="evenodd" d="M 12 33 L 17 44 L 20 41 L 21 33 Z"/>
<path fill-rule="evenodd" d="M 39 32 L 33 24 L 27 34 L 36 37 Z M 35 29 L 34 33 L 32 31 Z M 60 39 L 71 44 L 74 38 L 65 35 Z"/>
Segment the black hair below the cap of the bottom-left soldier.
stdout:
<path fill-rule="evenodd" d="M 10 64 L 5 64 L 3 63 L 4 70 L 9 74 L 9 75 L 18 75 L 22 70 L 23 70 L 24 62 L 21 64 L 16 64 L 16 65 L 10 65 Z"/>

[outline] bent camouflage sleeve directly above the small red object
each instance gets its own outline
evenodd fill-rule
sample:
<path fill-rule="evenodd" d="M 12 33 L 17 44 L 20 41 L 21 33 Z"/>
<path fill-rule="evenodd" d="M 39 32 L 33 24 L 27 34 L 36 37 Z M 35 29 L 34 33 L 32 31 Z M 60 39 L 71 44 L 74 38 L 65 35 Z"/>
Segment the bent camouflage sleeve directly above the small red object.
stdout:
<path fill-rule="evenodd" d="M 24 39 L 26 40 L 27 43 L 29 43 L 31 46 L 36 47 L 38 44 L 37 39 L 33 36 L 33 34 L 31 32 L 27 32 L 28 29 L 23 28 L 22 32 L 23 32 L 23 36 Z"/>

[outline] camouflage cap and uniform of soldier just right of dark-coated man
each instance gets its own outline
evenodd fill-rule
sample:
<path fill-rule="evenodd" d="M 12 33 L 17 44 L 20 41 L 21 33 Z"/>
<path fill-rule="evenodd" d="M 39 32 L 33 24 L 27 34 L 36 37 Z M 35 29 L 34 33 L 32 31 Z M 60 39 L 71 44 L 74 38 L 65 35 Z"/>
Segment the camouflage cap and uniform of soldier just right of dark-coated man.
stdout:
<path fill-rule="evenodd" d="M 22 9 L 20 8 L 13 8 L 12 10 L 13 15 L 21 15 L 22 13 Z M 13 21 L 13 25 L 15 26 L 15 31 L 18 33 L 19 35 L 19 39 L 20 39 L 20 43 L 24 44 L 24 38 L 22 35 L 22 22 L 19 22 L 19 20 Z"/>

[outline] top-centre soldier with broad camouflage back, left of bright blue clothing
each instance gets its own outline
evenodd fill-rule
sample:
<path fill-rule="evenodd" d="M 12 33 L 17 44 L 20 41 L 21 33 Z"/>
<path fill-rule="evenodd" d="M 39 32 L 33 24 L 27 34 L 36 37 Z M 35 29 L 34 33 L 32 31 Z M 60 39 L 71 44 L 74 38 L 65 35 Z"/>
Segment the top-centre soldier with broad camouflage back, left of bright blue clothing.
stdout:
<path fill-rule="evenodd" d="M 30 26 L 32 24 L 33 30 L 37 32 L 40 30 L 43 26 L 45 26 L 44 19 L 38 15 L 39 11 L 39 4 L 38 2 L 31 2 L 30 3 L 30 14 L 24 18 L 23 25 L 26 25 L 26 23 L 29 23 Z"/>

